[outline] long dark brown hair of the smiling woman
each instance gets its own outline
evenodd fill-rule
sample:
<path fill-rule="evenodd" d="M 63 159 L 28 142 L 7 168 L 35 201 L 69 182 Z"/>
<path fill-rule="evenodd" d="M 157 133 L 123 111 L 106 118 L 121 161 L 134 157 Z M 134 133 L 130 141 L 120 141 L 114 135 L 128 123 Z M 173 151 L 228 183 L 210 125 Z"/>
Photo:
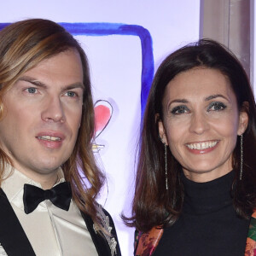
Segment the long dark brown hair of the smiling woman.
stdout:
<path fill-rule="evenodd" d="M 238 109 L 249 117 L 244 137 L 243 173 L 240 172 L 240 137 L 232 155 L 236 177 L 232 186 L 233 203 L 241 218 L 249 218 L 256 197 L 256 108 L 253 90 L 236 56 L 223 45 L 201 39 L 166 57 L 154 76 L 149 92 L 138 156 L 135 197 L 132 217 L 126 224 L 148 231 L 154 226 L 172 225 L 183 209 L 181 166 L 168 150 L 168 190 L 166 190 L 164 144 L 161 143 L 158 120 L 162 119 L 162 100 L 166 85 L 178 74 L 194 67 L 213 68 L 224 74 L 236 95 Z M 244 102 L 247 102 L 244 104 Z M 159 116 L 159 119 L 155 117 Z"/>

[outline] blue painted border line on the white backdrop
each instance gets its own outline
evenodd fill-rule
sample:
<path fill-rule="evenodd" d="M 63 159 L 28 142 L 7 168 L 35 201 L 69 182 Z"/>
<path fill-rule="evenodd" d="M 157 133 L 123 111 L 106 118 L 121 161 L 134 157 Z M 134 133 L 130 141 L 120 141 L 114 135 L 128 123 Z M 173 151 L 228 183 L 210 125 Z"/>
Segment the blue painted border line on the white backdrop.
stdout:
<path fill-rule="evenodd" d="M 0 29 L 8 26 L 10 23 L 0 23 Z M 108 36 L 108 35 L 130 35 L 137 36 L 142 45 L 142 89 L 141 89 L 141 108 L 142 117 L 148 92 L 154 77 L 154 56 L 152 38 L 147 29 L 138 25 L 125 25 L 122 23 L 59 23 L 68 32 L 76 35 L 86 36 Z"/>

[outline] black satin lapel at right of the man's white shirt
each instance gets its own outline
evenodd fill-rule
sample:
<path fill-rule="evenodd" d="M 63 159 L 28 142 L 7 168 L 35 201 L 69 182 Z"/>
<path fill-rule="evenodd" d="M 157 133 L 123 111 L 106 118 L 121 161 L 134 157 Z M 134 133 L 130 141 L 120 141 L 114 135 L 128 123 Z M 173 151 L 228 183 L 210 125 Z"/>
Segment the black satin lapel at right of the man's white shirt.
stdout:
<path fill-rule="evenodd" d="M 82 217 L 84 218 L 87 229 L 90 232 L 90 237 L 96 247 L 96 251 L 99 254 L 99 256 L 111 256 L 110 248 L 108 246 L 108 241 L 106 241 L 106 239 L 103 238 L 100 234 L 98 233 L 96 234 L 95 230 L 93 229 L 92 219 L 84 212 L 81 212 L 81 214 L 82 214 Z"/>

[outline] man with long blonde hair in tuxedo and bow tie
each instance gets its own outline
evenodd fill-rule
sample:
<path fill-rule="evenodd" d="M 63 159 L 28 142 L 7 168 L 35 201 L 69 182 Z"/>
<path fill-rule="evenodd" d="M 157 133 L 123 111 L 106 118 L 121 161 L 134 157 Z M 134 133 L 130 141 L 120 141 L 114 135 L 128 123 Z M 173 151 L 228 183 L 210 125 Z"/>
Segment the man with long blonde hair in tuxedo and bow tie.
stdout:
<path fill-rule="evenodd" d="M 0 254 L 120 255 L 95 201 L 104 177 L 83 49 L 49 20 L 16 22 L 0 38 Z"/>

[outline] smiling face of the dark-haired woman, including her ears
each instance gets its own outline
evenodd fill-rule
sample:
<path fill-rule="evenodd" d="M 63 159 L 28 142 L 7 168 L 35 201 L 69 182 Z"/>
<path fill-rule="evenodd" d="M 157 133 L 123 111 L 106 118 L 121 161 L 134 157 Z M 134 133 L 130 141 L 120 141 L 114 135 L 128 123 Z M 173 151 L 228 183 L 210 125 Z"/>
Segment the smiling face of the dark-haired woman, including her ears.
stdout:
<path fill-rule="evenodd" d="M 229 79 L 216 69 L 193 68 L 166 86 L 163 143 L 196 182 L 207 182 L 232 170 L 236 137 L 247 128 L 248 116 L 237 108 Z"/>

